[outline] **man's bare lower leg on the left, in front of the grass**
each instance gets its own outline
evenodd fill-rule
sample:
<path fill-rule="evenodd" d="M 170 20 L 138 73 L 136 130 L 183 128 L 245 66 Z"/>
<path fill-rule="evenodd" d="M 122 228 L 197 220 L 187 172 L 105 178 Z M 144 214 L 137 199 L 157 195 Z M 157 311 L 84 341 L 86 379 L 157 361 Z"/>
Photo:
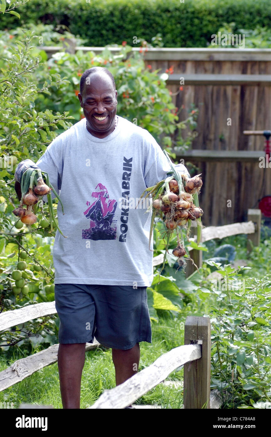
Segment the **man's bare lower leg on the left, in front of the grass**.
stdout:
<path fill-rule="evenodd" d="M 85 364 L 86 343 L 60 343 L 58 372 L 64 409 L 80 408 L 81 376 Z"/>

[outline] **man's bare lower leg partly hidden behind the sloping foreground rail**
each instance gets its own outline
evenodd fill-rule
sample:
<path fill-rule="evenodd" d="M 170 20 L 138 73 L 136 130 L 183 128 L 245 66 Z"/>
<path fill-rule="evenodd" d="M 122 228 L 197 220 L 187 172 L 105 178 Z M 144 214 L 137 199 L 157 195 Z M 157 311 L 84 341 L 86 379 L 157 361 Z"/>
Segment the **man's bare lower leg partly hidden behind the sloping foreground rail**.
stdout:
<path fill-rule="evenodd" d="M 112 360 L 115 366 L 116 385 L 122 384 L 138 371 L 140 358 L 139 343 L 132 349 L 112 349 Z"/>

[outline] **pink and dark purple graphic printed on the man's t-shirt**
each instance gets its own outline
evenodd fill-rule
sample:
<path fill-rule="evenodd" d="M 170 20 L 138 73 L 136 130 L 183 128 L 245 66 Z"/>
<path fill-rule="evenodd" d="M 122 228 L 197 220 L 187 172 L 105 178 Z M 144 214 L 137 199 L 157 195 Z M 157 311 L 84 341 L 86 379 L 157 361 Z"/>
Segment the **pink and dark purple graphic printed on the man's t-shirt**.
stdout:
<path fill-rule="evenodd" d="M 91 240 L 114 240 L 116 238 L 117 220 L 113 220 L 117 201 L 109 199 L 104 185 L 99 183 L 91 194 L 95 201 L 87 201 L 88 208 L 84 212 L 85 218 L 90 219 L 89 228 L 82 229 L 82 238 Z"/>

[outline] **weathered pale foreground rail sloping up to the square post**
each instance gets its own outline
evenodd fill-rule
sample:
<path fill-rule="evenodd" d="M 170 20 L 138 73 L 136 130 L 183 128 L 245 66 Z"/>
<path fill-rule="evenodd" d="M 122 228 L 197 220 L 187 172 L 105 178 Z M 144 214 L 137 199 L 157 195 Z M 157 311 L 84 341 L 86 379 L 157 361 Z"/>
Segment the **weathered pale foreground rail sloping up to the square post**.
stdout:
<path fill-rule="evenodd" d="M 89 409 L 122 409 L 164 381 L 176 368 L 201 357 L 199 344 L 179 346 L 117 387 L 105 390 Z"/>

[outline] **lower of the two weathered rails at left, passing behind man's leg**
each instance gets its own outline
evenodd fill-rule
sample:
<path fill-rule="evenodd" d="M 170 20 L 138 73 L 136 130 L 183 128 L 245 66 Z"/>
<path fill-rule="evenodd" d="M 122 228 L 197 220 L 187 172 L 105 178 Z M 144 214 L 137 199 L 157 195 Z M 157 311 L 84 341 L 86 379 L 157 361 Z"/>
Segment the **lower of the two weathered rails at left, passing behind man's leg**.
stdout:
<path fill-rule="evenodd" d="M 85 350 L 91 350 L 98 347 L 100 343 L 94 338 L 93 343 L 86 343 Z M 21 358 L 11 364 L 10 367 L 0 372 L 0 392 L 17 382 L 23 381 L 27 376 L 32 375 L 37 370 L 43 369 L 50 364 L 58 361 L 58 346 L 54 344 L 37 354 Z M 128 404 L 127 404 L 128 405 Z"/>

